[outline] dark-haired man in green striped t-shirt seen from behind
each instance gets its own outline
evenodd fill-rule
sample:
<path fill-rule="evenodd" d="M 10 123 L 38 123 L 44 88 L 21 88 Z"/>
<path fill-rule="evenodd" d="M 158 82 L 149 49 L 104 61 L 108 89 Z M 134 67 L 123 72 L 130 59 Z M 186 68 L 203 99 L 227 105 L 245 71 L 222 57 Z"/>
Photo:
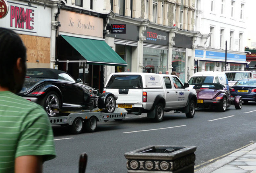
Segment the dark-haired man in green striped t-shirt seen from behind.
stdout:
<path fill-rule="evenodd" d="M 26 47 L 14 31 L 0 28 L 0 173 L 41 173 L 56 157 L 44 109 L 16 95 L 26 74 Z"/>

